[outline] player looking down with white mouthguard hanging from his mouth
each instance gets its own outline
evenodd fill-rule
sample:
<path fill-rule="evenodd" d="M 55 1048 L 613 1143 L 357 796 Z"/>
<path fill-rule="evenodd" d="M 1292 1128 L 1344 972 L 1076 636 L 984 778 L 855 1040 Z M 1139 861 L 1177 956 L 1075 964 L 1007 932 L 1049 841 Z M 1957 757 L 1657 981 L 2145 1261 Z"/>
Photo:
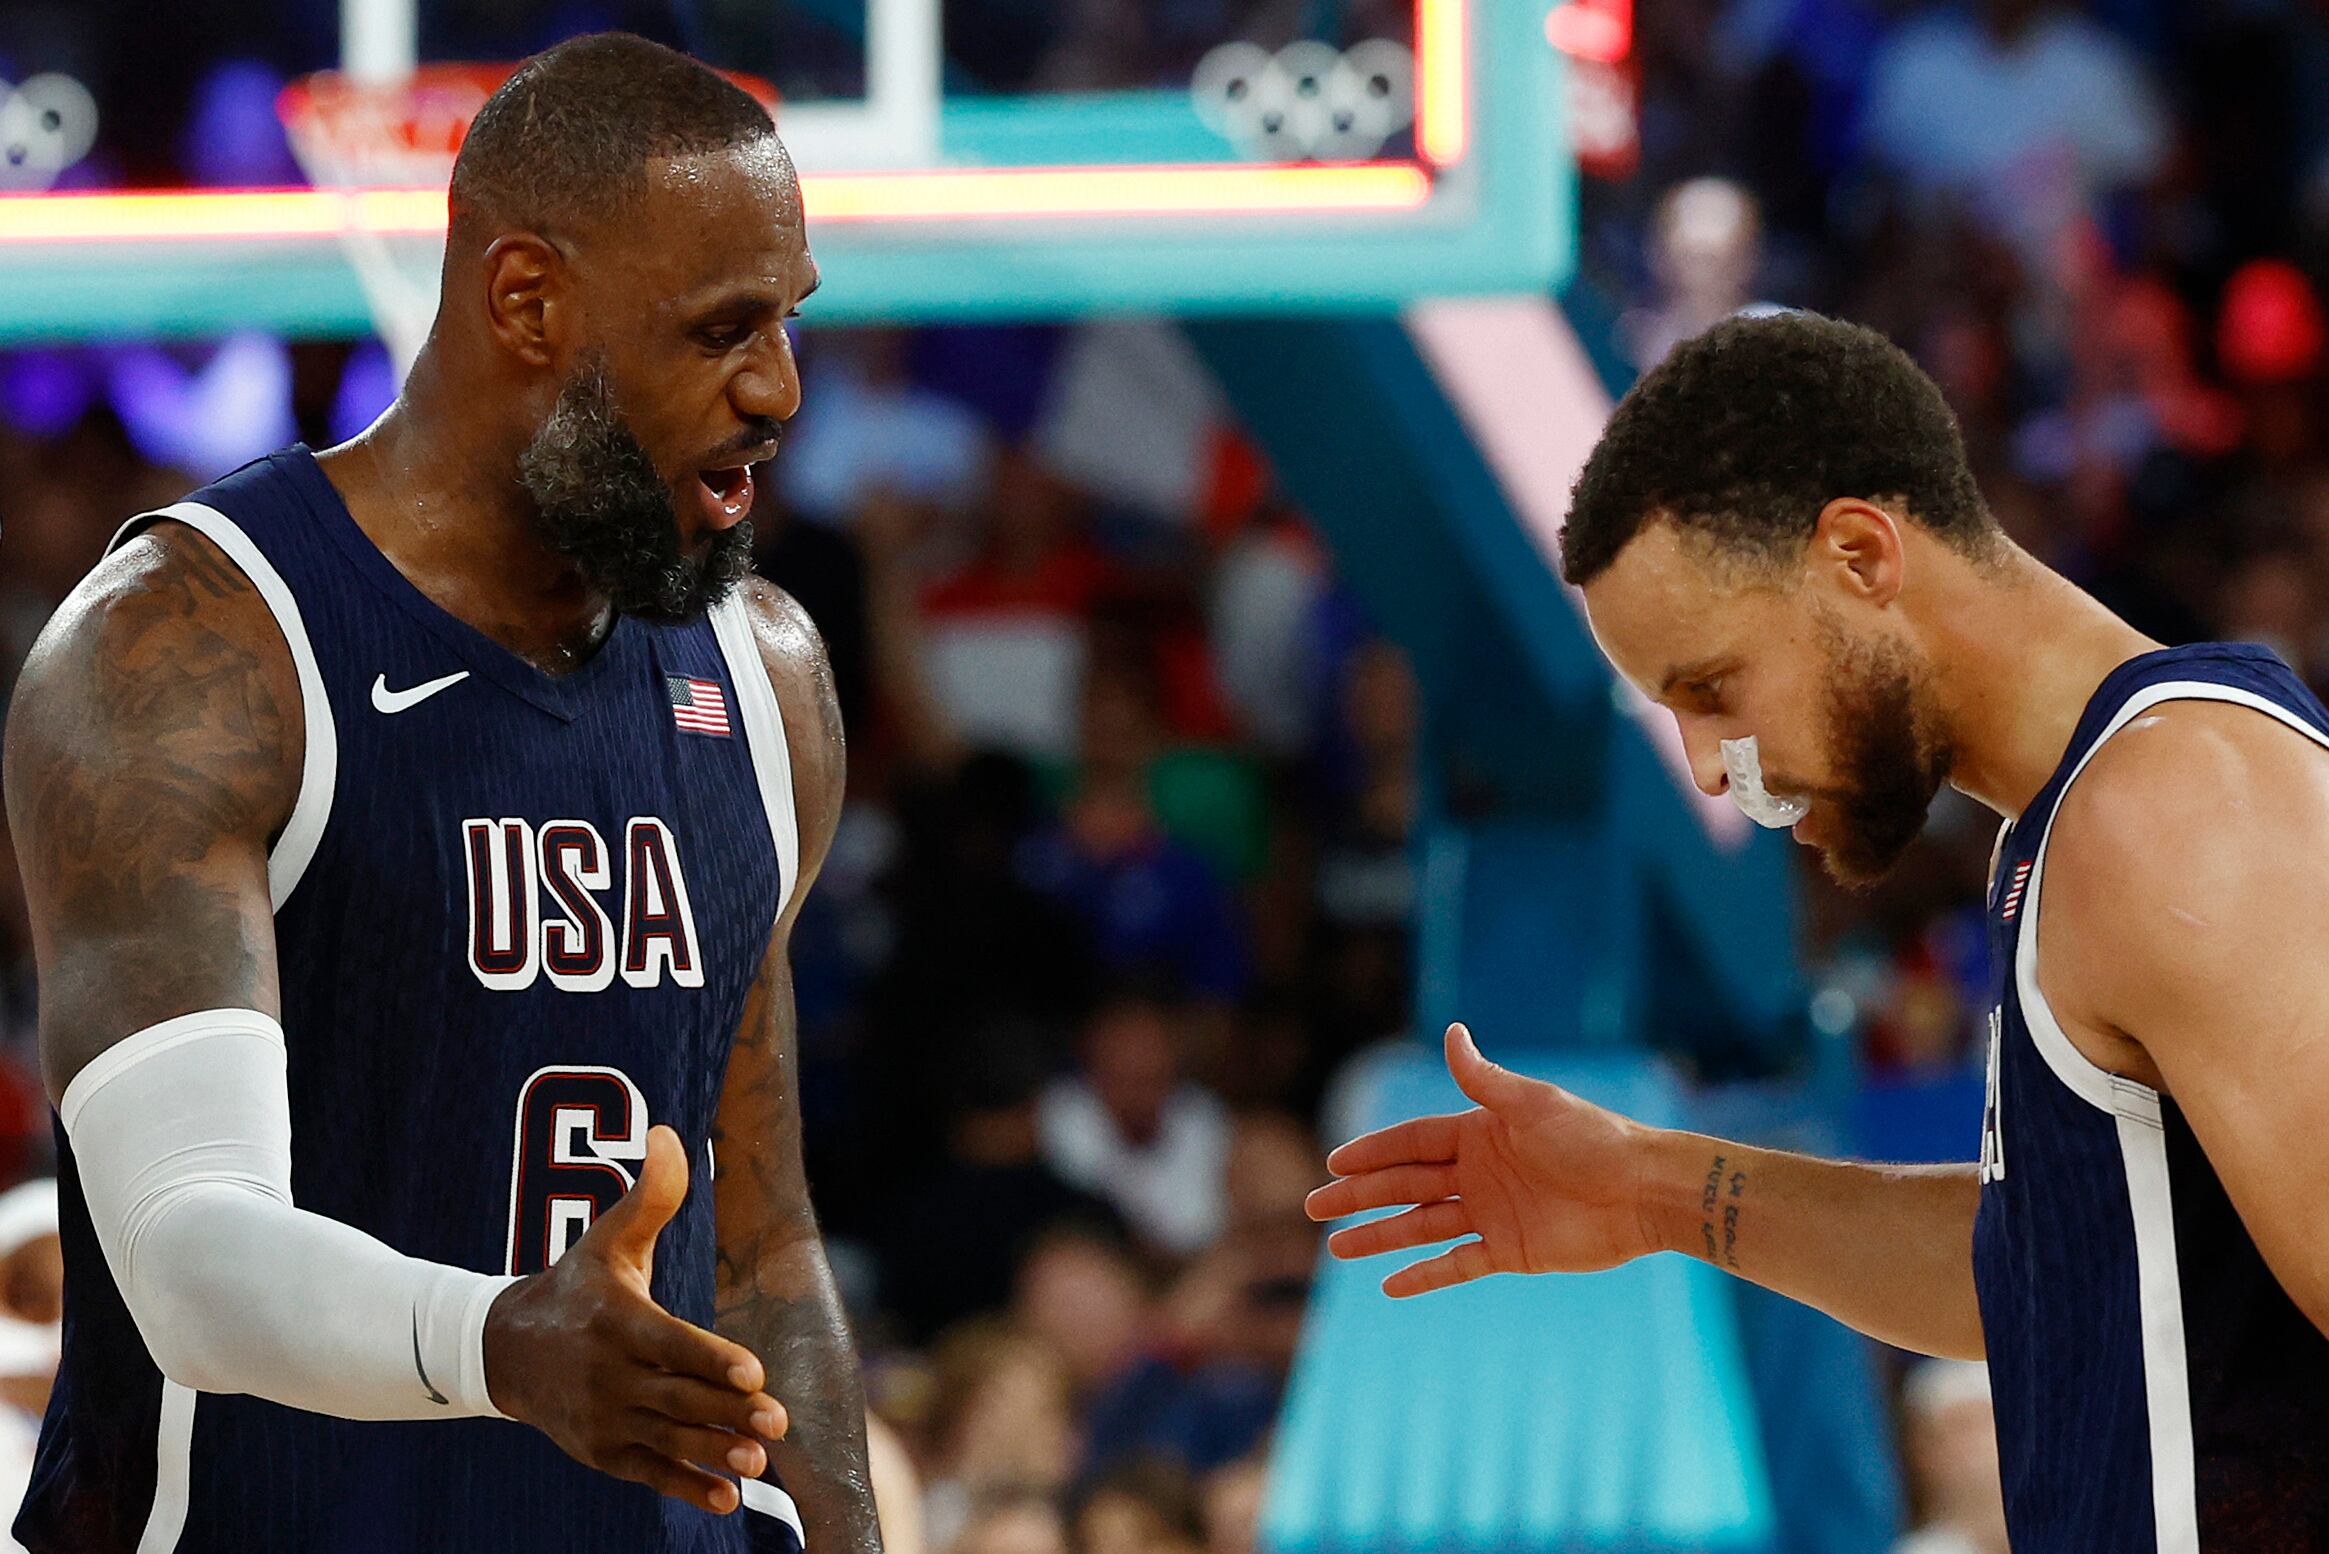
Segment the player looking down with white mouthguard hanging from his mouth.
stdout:
<path fill-rule="evenodd" d="M 1942 783 L 2005 818 L 1980 1163 L 1656 1130 L 1479 1055 L 1335 1151 L 1337 1256 L 1705 1258 L 1987 1358 L 2015 1554 L 2329 1549 L 2329 711 L 2268 650 L 2161 648 L 2017 548 L 1882 338 L 1733 319 L 1616 408 L 1563 534 L 1691 771 L 1884 874 Z M 1970 1139 L 1968 1139 L 1970 1144 Z"/>

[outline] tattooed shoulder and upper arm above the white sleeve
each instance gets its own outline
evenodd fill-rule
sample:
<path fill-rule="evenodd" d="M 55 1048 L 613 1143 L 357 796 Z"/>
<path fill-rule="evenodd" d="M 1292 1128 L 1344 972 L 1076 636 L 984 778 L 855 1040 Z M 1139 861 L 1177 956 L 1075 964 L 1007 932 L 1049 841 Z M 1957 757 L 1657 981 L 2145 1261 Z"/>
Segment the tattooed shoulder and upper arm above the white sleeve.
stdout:
<path fill-rule="evenodd" d="M 245 897 L 256 878 L 268 906 L 303 743 L 275 617 L 193 529 L 156 524 L 65 599 L 7 722 L 44 1039 L 84 1030 L 102 1048 L 189 1009 L 272 1002 Z M 86 1053 L 49 1058 L 54 1079 Z"/>

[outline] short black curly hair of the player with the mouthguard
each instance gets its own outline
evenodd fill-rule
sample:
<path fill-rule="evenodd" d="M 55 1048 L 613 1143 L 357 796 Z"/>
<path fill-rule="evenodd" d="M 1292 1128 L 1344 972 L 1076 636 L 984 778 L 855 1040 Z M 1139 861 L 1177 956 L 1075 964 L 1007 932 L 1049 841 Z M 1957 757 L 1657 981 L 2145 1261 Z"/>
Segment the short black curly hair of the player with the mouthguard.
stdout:
<path fill-rule="evenodd" d="M 1560 575 L 1591 582 L 1654 520 L 1777 566 L 1838 496 L 1900 506 L 1973 557 L 2003 538 L 1940 387 L 1907 352 L 1817 312 L 1723 319 L 1609 417 L 1570 494 Z"/>

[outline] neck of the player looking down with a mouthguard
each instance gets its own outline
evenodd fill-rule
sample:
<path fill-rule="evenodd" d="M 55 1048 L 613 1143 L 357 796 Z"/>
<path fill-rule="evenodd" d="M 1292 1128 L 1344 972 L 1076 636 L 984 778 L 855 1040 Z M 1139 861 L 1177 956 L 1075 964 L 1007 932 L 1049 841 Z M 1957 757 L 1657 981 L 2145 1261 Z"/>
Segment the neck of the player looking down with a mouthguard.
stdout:
<path fill-rule="evenodd" d="M 2015 818 L 2054 776 L 2103 678 L 2159 643 L 2019 548 L 1945 573 L 1928 641 L 1956 746 L 1949 783 Z"/>

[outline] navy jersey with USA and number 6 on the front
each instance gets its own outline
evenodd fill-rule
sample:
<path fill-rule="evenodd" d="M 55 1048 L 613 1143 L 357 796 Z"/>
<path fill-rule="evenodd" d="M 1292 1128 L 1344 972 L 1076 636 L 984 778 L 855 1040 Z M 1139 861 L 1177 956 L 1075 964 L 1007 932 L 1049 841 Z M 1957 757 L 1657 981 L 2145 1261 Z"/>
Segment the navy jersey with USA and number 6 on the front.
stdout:
<path fill-rule="evenodd" d="M 710 1326 L 713 1111 L 797 874 L 743 601 L 620 620 L 552 678 L 415 589 L 305 447 L 154 517 L 219 543 L 298 666 L 305 771 L 268 867 L 293 1200 L 536 1272 L 668 1123 L 694 1170 L 654 1295 Z M 710 1517 L 505 1419 L 359 1424 L 168 1382 L 58 1149 L 65 1351 L 16 1519 L 35 1554 L 797 1554 L 773 1482 Z"/>

